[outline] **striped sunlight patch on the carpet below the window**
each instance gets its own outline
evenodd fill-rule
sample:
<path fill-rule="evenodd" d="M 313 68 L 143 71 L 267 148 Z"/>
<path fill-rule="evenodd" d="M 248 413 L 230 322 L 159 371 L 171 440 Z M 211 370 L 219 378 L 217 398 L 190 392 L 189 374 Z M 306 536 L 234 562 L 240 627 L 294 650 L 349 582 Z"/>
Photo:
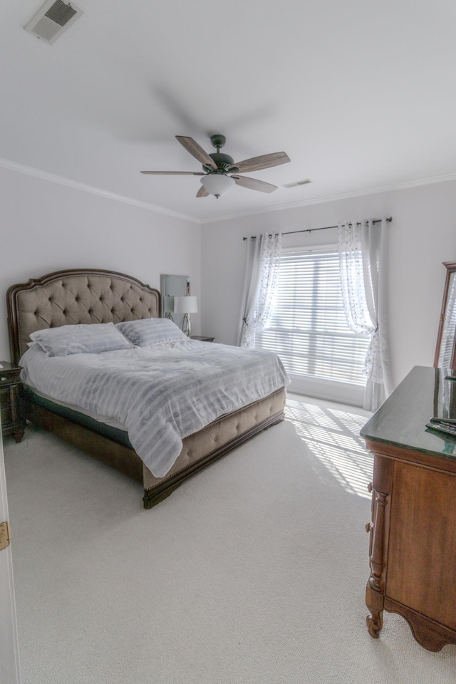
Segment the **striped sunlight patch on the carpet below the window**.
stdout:
<path fill-rule="evenodd" d="M 347 492 L 371 499 L 373 457 L 359 434 L 366 417 L 289 399 L 286 420 Z"/>

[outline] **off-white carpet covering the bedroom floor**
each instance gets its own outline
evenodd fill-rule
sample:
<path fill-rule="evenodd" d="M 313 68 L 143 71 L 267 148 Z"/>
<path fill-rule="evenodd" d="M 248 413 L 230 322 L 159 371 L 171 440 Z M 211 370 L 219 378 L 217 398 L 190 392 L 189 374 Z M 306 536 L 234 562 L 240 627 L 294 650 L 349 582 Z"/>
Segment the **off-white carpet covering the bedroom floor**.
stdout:
<path fill-rule="evenodd" d="M 142 509 L 140 484 L 28 428 L 5 443 L 23 684 L 450 684 L 364 592 L 361 410 L 289 399 L 262 432 Z"/>

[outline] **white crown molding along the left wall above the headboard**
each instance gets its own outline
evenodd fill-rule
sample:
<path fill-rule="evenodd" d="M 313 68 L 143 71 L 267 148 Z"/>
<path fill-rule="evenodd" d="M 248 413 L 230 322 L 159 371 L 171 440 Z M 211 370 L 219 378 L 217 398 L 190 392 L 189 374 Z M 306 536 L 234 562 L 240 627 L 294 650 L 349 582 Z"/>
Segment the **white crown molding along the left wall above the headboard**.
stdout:
<path fill-rule="evenodd" d="M 185 221 L 190 221 L 192 223 L 201 223 L 199 219 L 196 219 L 194 216 L 179 214 L 178 212 L 173 212 L 171 209 L 164 209 L 163 207 L 158 207 L 156 204 L 140 202 L 139 199 L 133 199 L 133 197 L 117 195 L 115 192 L 102 190 L 100 187 L 86 185 L 86 183 L 80 183 L 77 180 L 71 180 L 71 178 L 58 176 L 55 173 L 49 173 L 48 171 L 41 171 L 40 169 L 36 169 L 31 166 L 26 166 L 24 164 L 19 164 L 18 162 L 11 162 L 7 159 L 2 159 L 1 157 L 0 167 L 4 167 L 5 169 L 9 169 L 10 171 L 16 171 L 18 173 L 25 173 L 26 175 L 33 176 L 35 178 L 40 178 L 41 180 L 47 180 L 52 183 L 58 183 L 58 185 L 66 185 L 66 187 L 72 187 L 73 190 L 83 190 L 83 192 L 90 192 L 92 195 L 98 195 L 98 197 L 104 197 L 105 199 L 114 199 L 116 202 L 130 204 L 133 207 L 138 207 L 139 209 L 147 209 L 147 211 L 156 212 L 157 214 L 166 214 L 167 216 L 172 216 L 177 219 L 184 219 Z"/>

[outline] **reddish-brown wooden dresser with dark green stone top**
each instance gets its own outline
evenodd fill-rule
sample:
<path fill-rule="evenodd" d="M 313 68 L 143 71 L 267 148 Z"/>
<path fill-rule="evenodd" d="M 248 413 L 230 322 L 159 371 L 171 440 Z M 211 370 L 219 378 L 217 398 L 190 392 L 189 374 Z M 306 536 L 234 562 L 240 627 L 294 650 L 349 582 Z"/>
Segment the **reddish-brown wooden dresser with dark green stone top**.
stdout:
<path fill-rule="evenodd" d="M 368 631 L 399 613 L 429 651 L 456 644 L 456 438 L 427 429 L 456 418 L 456 381 L 416 366 L 361 430 L 374 456 Z"/>

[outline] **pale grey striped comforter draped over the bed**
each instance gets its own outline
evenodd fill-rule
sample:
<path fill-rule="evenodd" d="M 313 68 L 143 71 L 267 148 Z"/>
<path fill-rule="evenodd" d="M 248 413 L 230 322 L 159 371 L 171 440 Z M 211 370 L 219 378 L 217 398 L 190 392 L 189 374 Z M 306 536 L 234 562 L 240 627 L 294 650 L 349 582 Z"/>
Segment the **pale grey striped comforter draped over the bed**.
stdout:
<path fill-rule="evenodd" d="M 170 470 L 183 437 L 289 382 L 274 353 L 189 339 L 52 357 L 33 343 L 20 364 L 31 388 L 125 425 L 155 477 Z"/>

